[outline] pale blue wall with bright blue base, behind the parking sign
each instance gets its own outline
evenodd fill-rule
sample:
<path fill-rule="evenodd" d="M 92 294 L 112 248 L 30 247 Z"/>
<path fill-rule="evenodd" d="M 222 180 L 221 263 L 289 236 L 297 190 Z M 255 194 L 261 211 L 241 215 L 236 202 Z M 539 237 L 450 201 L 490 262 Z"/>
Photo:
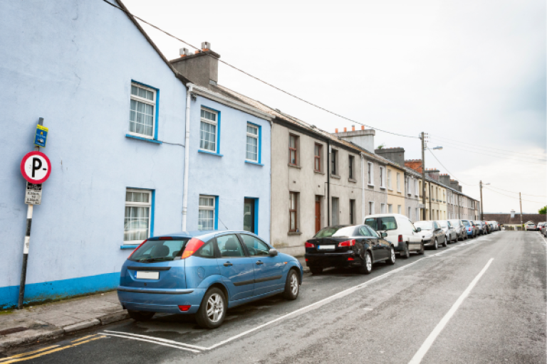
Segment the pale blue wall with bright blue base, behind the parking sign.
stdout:
<path fill-rule="evenodd" d="M 19 163 L 38 117 L 53 169 L 34 208 L 26 301 L 113 288 L 130 254 L 120 250 L 125 188 L 155 190 L 156 235 L 182 223 L 184 147 L 125 137 L 131 80 L 160 90 L 157 139 L 177 144 L 185 87 L 103 1 L 1 1 L 0 34 L 0 307 L 16 304 L 27 210 Z M 217 194 L 222 207 L 226 190 Z"/>

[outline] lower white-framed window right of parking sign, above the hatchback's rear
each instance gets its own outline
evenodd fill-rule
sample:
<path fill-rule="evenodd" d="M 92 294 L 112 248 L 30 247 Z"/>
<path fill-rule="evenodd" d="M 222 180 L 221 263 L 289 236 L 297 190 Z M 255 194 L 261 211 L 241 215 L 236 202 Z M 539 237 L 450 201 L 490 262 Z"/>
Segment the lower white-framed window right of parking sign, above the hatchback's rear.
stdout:
<path fill-rule="evenodd" d="M 150 210 L 152 191 L 125 191 L 125 220 L 123 225 L 123 243 L 140 244 L 150 237 Z"/>

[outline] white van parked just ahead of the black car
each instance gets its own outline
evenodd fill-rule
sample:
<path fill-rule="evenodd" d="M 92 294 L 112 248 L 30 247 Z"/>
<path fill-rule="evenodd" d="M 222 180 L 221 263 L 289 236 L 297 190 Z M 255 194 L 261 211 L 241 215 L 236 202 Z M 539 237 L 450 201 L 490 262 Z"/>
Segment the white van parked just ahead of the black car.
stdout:
<path fill-rule="evenodd" d="M 419 234 L 420 228 L 415 228 L 412 221 L 405 215 L 397 213 L 382 213 L 367 215 L 363 224 L 370 226 L 378 233 L 385 232 L 384 239 L 392 243 L 395 252 L 402 258 L 410 257 L 410 252 L 424 254 L 424 242 Z"/>

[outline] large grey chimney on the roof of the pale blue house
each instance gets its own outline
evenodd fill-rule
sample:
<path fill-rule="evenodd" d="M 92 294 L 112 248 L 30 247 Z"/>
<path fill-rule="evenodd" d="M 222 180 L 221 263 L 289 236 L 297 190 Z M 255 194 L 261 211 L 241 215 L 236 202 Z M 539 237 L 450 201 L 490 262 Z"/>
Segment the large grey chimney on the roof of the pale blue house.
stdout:
<path fill-rule="evenodd" d="M 171 65 L 188 80 L 212 90 L 219 80 L 220 55 L 211 50 L 211 43 L 203 42 L 202 50 L 194 54 L 187 48 L 180 50 L 180 58 L 170 60 Z"/>

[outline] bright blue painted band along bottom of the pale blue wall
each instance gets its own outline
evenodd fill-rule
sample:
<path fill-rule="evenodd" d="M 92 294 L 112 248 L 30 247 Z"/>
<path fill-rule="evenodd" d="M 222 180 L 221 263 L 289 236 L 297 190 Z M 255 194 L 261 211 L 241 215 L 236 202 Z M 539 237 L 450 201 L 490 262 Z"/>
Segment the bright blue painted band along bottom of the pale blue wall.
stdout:
<path fill-rule="evenodd" d="M 61 281 L 26 284 L 24 304 L 53 301 L 81 294 L 115 289 L 120 284 L 120 273 L 99 274 Z M 0 309 L 17 306 L 19 286 L 0 287 Z"/>

